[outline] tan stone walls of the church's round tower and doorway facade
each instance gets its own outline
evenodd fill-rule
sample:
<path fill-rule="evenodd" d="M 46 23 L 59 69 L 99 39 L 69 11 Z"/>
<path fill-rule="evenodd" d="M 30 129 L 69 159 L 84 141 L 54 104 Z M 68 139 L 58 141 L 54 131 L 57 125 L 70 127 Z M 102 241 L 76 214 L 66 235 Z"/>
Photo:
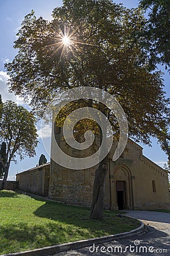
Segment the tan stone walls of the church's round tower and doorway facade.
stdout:
<path fill-rule="evenodd" d="M 78 156 L 75 155 L 74 150 L 66 146 L 62 138 L 62 130 L 56 130 L 56 140 L 61 150 L 67 155 Z M 111 157 L 116 146 L 117 143 L 112 146 Z M 92 153 L 93 148 L 89 152 Z M 53 143 L 52 153 L 56 154 Z M 87 156 L 86 152 L 83 156 Z M 97 166 L 86 170 L 83 168 L 70 170 L 51 160 L 49 197 L 63 203 L 90 206 L 96 168 Z M 108 163 L 104 195 L 105 209 L 118 210 L 117 181 L 125 184 L 123 196 L 125 209 L 170 209 L 167 173 L 143 156 L 142 147 L 133 141 L 128 141 L 124 153 L 116 162 Z M 153 189 L 153 182 L 156 185 L 156 191 Z"/>

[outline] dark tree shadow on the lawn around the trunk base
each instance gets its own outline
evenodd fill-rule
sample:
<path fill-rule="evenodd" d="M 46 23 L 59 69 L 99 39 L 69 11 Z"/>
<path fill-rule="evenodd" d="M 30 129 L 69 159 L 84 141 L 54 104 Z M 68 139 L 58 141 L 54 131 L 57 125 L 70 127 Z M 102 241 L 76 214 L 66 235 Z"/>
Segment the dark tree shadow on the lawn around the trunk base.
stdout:
<path fill-rule="evenodd" d="M 140 222 L 131 218 L 117 216 L 117 212 L 105 211 L 101 221 L 90 219 L 90 208 L 46 201 L 34 214 L 42 218 L 74 225 L 78 229 L 89 230 L 94 237 L 127 232 L 140 226 Z"/>

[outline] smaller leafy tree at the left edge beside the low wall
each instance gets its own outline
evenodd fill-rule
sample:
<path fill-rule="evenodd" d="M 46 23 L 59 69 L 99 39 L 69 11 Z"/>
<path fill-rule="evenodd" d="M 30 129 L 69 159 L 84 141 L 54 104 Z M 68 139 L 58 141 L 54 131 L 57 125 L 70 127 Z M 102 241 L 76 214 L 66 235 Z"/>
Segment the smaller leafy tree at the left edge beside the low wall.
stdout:
<path fill-rule="evenodd" d="M 23 106 L 17 106 L 15 102 L 6 101 L 1 109 L 0 138 L 6 147 L 3 150 L 3 155 L 0 155 L 0 162 L 4 170 L 1 187 L 3 189 L 8 177 L 10 163 L 15 159 L 16 154 L 20 156 L 21 160 L 24 156 L 32 157 L 36 154 L 37 133 L 35 117 Z"/>

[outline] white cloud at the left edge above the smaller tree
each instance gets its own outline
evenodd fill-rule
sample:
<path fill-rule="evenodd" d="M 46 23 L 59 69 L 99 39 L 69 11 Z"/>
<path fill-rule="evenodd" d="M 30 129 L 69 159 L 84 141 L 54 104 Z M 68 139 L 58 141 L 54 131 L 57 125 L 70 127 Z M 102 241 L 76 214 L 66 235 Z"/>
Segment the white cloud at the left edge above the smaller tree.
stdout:
<path fill-rule="evenodd" d="M 23 105 L 24 102 L 22 98 L 15 96 L 14 93 L 8 92 L 7 80 L 10 77 L 7 75 L 6 72 L 0 71 L 0 94 L 2 95 L 2 101 L 5 102 L 7 100 L 15 101 L 16 104 Z"/>

